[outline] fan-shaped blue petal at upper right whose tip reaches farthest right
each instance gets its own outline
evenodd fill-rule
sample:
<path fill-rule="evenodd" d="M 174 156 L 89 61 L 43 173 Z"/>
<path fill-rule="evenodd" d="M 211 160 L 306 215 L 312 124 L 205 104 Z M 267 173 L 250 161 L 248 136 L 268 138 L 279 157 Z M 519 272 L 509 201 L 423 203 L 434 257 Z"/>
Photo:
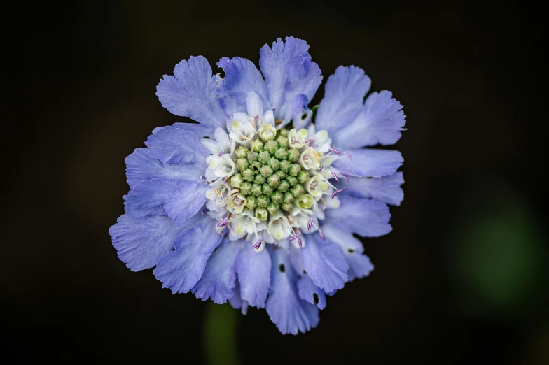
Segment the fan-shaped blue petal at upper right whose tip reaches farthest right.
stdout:
<path fill-rule="evenodd" d="M 332 132 L 333 143 L 341 148 L 396 143 L 401 138 L 406 116 L 401 103 L 392 96 L 387 90 L 370 94 L 355 120 Z"/>

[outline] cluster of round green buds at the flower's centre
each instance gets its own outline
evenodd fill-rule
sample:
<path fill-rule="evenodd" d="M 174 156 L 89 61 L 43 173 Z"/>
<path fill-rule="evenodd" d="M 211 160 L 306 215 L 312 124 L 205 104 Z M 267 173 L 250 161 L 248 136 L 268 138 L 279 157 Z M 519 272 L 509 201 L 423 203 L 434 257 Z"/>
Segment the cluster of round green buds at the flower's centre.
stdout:
<path fill-rule="evenodd" d="M 294 205 L 310 208 L 313 198 L 302 186 L 310 176 L 296 163 L 300 152 L 289 148 L 288 130 L 280 129 L 267 141 L 254 138 L 249 148 L 238 146 L 235 155 L 239 172 L 229 179 L 230 185 L 240 190 L 246 208 L 259 220 L 289 212 Z"/>

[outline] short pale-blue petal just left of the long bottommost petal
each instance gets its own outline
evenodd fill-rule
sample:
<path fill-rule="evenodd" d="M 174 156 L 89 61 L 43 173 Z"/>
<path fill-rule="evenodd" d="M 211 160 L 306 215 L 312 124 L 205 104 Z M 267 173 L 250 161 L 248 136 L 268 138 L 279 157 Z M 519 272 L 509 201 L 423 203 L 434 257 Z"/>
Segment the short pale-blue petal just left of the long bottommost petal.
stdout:
<path fill-rule="evenodd" d="M 267 250 L 254 252 L 252 245 L 244 245 L 237 259 L 240 295 L 250 306 L 265 308 L 271 282 L 271 258 Z"/>

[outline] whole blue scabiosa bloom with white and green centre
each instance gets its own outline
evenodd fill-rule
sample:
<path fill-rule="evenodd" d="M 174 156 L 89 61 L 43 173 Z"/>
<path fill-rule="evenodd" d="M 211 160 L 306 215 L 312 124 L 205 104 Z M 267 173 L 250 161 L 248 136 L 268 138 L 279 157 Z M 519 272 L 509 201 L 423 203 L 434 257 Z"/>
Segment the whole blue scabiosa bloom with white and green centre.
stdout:
<path fill-rule="evenodd" d="M 354 234 L 389 233 L 403 199 L 391 145 L 405 115 L 373 92 L 358 67 L 340 66 L 314 115 L 319 66 L 305 41 L 260 50 L 260 70 L 223 57 L 225 77 L 190 57 L 157 87 L 162 106 L 199 124 L 160 127 L 126 162 L 125 214 L 109 233 L 133 271 L 203 301 L 266 308 L 283 334 L 319 323 L 326 294 L 373 270 Z"/>

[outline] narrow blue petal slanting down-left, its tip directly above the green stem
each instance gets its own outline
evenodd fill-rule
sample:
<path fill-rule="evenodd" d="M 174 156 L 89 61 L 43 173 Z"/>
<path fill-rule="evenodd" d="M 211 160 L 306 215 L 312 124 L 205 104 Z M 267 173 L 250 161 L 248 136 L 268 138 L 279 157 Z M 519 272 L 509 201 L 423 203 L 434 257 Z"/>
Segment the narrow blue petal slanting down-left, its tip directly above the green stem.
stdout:
<path fill-rule="evenodd" d="M 198 280 L 193 293 L 202 301 L 211 298 L 216 304 L 223 304 L 232 298 L 235 287 L 235 262 L 242 244 L 225 241 L 208 259 L 202 278 Z"/>

